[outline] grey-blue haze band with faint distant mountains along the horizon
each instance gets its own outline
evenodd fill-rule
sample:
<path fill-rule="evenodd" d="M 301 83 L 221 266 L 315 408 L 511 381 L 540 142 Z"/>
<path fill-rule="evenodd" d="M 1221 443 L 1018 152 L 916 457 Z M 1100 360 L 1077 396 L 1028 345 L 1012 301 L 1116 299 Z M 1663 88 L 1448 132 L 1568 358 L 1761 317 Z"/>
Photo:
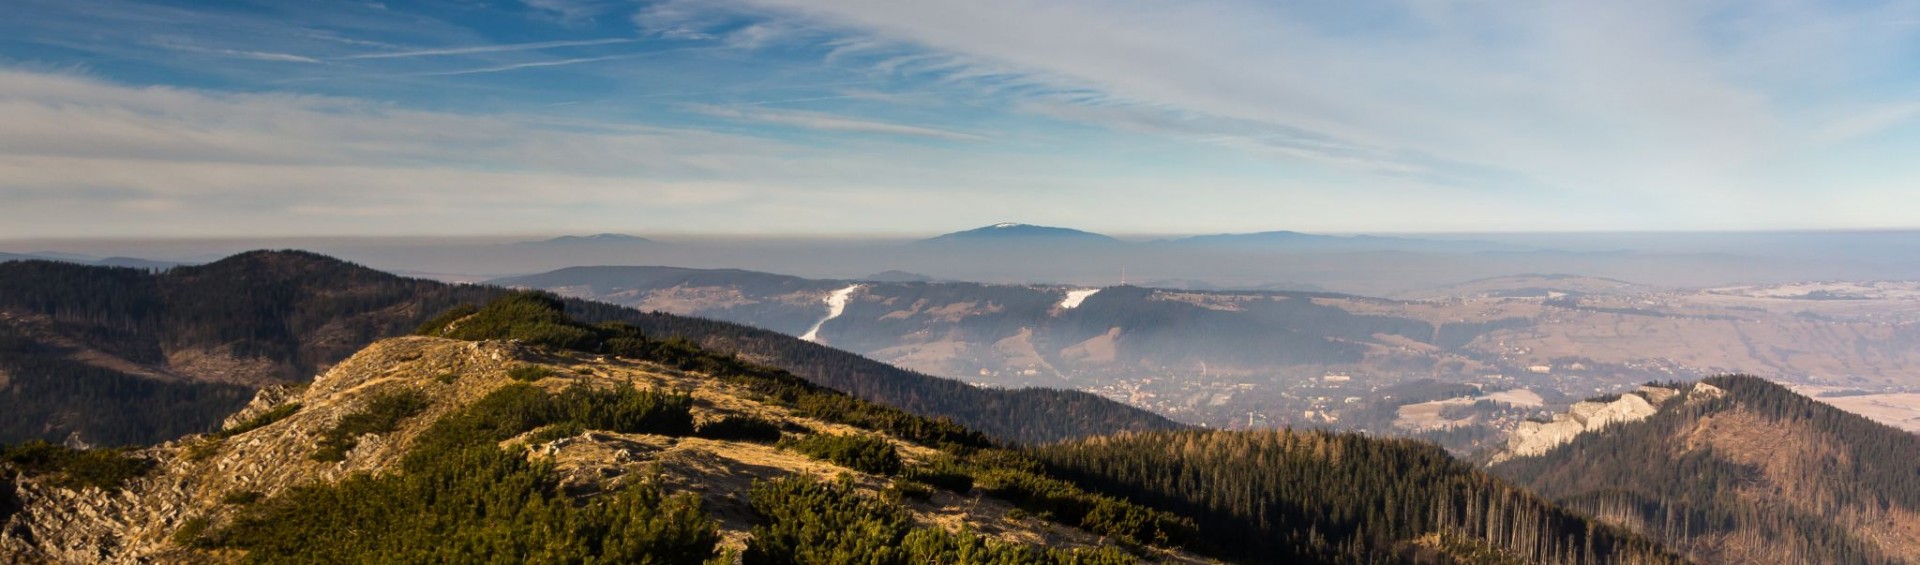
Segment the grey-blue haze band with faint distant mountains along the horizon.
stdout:
<path fill-rule="evenodd" d="M 582 233 L 586 234 L 586 233 Z M 653 234 L 657 236 L 657 234 Z M 4 242 L 12 254 L 205 263 L 298 248 L 369 267 L 478 282 L 582 265 L 747 269 L 806 279 L 910 271 L 945 281 L 1183 288 L 1288 288 L 1400 296 L 1505 275 L 1584 275 L 1707 288 L 1791 281 L 1920 279 L 1920 231 L 1394 234 L 1392 240 L 1056 246 L 1044 240 L 922 246 L 914 238 L 666 238 L 540 244 L 549 236 L 202 238 Z M 532 242 L 532 244 L 530 244 Z M 1165 242 L 1165 244 L 1164 244 Z M 1344 246 L 1342 242 L 1354 242 Z"/>

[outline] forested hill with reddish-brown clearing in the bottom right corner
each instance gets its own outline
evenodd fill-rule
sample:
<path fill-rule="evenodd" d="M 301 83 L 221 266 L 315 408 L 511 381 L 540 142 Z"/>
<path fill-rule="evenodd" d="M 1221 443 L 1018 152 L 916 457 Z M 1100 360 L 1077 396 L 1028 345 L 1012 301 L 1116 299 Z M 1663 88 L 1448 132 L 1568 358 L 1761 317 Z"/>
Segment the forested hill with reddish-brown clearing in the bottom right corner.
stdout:
<path fill-rule="evenodd" d="M 1920 563 L 1920 436 L 1753 377 L 1496 475 L 1703 563 Z"/>

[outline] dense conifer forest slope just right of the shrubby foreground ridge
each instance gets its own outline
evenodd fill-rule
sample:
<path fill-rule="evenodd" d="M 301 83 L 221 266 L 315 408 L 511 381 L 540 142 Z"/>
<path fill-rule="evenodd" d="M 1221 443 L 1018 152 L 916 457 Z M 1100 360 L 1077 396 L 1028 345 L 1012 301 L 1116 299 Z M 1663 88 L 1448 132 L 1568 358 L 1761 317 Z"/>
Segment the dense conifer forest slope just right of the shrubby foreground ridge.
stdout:
<path fill-rule="evenodd" d="M 1190 517 L 1242 563 L 1684 563 L 1413 440 L 1179 430 L 1031 452 L 1094 492 Z M 1444 559 L 1442 559 L 1444 563 Z"/>

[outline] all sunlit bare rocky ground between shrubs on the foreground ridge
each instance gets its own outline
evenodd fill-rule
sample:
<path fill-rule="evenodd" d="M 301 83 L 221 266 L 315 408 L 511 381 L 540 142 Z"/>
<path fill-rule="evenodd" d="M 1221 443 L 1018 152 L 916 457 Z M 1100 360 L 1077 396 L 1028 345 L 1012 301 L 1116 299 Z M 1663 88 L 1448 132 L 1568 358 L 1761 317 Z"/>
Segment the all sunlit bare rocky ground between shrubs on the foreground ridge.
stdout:
<path fill-rule="evenodd" d="M 288 488 L 334 482 L 353 473 L 392 473 L 413 444 L 442 415 L 467 407 L 486 394 L 513 384 L 509 371 L 545 365 L 549 377 L 532 384 L 557 392 L 576 384 L 637 386 L 685 392 L 693 398 L 695 421 L 751 415 L 780 423 L 785 430 L 876 434 L 874 430 L 795 415 L 789 407 L 766 404 L 741 384 L 684 373 L 645 361 L 609 359 L 588 354 L 547 352 L 516 342 L 461 342 L 444 338 L 394 338 L 369 346 L 332 371 L 303 386 L 269 386 L 252 404 L 227 419 L 225 429 L 257 423 L 259 415 L 300 404 L 290 415 L 244 432 L 188 436 L 132 452 L 154 461 L 144 477 L 121 490 L 71 490 L 44 479 L 13 484 L 19 511 L 0 513 L 0 565 L 13 563 L 221 563 L 236 561 L 232 552 L 182 548 L 173 538 L 190 523 L 219 527 L 242 511 L 232 494 L 271 498 Z M 361 411 L 372 398 L 413 390 L 428 407 L 384 434 L 359 436 L 344 461 L 315 461 L 319 440 L 334 425 Z M 284 413 L 284 411 L 282 411 Z M 935 450 L 899 442 L 908 463 L 935 457 Z M 851 477 L 862 490 L 877 494 L 889 480 L 797 452 L 766 446 L 708 440 L 697 436 L 614 434 L 584 430 L 555 440 L 511 438 L 503 448 L 526 450 L 528 457 L 547 457 L 568 494 L 618 490 L 634 480 L 660 480 L 670 490 L 699 494 L 720 523 L 722 548 L 739 550 L 756 515 L 743 492 L 753 480 L 783 475 Z M 0 488 L 6 488 L 0 482 Z M 0 505 L 6 505 L 0 492 Z M 996 536 L 1002 540 L 1054 548 L 1092 548 L 1100 536 L 1044 523 L 1014 505 L 979 494 L 937 492 L 927 500 L 902 502 L 922 523 Z M 4 511 L 4 507 L 0 507 Z M 1188 553 L 1164 553 L 1162 561 L 1200 561 Z"/>

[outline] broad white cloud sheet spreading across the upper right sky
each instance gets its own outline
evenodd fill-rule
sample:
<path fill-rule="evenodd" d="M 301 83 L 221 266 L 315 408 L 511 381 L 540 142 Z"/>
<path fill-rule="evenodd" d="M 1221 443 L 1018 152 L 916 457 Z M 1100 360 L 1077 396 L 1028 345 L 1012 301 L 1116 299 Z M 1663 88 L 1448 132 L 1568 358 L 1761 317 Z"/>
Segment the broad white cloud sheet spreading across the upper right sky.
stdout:
<path fill-rule="evenodd" d="M 1849 100 L 1864 90 L 1839 88 L 1884 63 L 1843 73 L 1834 61 L 1897 61 L 1912 31 L 1880 23 L 1916 10 L 1799 0 L 710 4 L 839 29 L 826 42 L 829 58 L 883 52 L 879 73 L 935 73 L 1006 96 L 1098 92 L 1102 102 L 1233 123 L 1217 133 L 1240 140 L 1258 138 L 1246 125 L 1265 125 L 1352 148 L 1288 144 L 1283 156 L 1388 175 L 1436 163 L 1503 171 L 1536 179 L 1540 190 L 1676 209 L 1766 190 L 1755 169 L 1822 131 L 1905 125 L 1907 111 L 1874 111 L 1884 102 Z M 701 21 L 710 19 L 645 23 L 697 33 Z M 887 54 L 876 42 L 908 48 Z M 1834 88 L 1795 92 L 1820 88 L 1812 85 Z M 1849 106 L 1866 111 L 1839 111 L 1839 123 L 1820 117 Z"/>

